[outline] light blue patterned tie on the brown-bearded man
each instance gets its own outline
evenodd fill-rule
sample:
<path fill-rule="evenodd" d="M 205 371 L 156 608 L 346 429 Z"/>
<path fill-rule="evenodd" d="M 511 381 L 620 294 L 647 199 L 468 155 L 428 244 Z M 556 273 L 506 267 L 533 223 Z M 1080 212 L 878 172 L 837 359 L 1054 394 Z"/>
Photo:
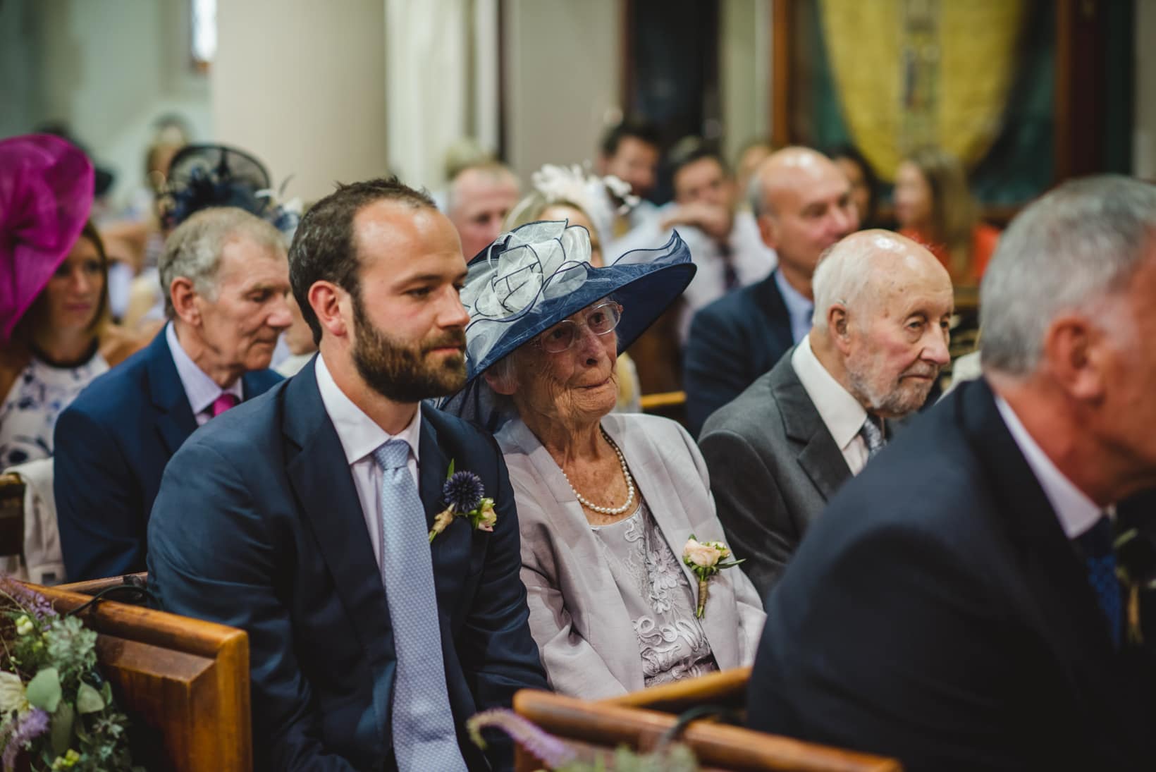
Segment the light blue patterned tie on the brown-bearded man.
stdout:
<path fill-rule="evenodd" d="M 373 451 L 373 460 L 381 468 L 381 581 L 398 658 L 393 682 L 398 769 L 465 772 L 445 686 L 425 507 L 406 468 L 409 445 L 391 439 Z"/>

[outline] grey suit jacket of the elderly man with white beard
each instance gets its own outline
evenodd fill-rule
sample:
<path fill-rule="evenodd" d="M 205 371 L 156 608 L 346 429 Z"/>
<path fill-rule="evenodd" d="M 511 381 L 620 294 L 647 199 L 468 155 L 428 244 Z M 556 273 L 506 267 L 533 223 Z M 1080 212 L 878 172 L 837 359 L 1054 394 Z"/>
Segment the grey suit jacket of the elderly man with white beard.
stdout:
<path fill-rule="evenodd" d="M 812 519 L 851 478 L 793 352 L 714 413 L 698 439 L 728 543 L 764 599 Z"/>

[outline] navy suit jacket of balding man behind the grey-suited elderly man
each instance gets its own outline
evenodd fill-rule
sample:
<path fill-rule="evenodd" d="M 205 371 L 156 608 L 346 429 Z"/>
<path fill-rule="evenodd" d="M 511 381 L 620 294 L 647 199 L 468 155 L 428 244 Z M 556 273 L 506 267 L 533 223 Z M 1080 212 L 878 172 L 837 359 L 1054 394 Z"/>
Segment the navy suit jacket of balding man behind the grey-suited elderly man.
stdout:
<path fill-rule="evenodd" d="M 701 309 L 683 350 L 687 425 L 698 437 L 712 413 L 747 391 L 794 346 L 775 275 Z"/>

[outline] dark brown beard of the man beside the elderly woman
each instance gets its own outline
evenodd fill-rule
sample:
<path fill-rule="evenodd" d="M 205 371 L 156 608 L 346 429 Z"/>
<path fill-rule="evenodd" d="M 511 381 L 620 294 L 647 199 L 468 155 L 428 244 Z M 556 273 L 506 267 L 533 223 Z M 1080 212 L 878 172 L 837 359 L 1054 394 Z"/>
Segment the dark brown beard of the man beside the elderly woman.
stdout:
<path fill-rule="evenodd" d="M 465 329 L 447 329 L 418 343 L 398 341 L 373 326 L 360 294 L 354 294 L 354 366 L 370 388 L 386 399 L 420 402 L 454 394 L 466 385 L 464 355 L 444 356 L 436 364 L 427 361 L 429 352 L 437 348 L 460 346 L 465 349 Z"/>

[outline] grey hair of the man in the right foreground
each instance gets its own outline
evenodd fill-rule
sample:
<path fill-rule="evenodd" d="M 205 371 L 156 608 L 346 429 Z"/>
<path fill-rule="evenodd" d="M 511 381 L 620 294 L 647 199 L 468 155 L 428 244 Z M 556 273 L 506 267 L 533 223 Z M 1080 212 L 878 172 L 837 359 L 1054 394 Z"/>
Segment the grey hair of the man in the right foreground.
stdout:
<path fill-rule="evenodd" d="M 1000 238 L 979 290 L 985 370 L 1035 372 L 1061 313 L 1122 289 L 1156 242 L 1156 186 L 1118 175 L 1065 183 Z"/>

